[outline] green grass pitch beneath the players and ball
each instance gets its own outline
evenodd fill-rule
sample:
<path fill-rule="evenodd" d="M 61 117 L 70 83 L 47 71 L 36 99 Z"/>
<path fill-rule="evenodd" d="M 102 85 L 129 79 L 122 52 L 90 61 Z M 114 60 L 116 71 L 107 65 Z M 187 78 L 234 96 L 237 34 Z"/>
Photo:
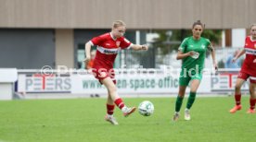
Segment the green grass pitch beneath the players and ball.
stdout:
<path fill-rule="evenodd" d="M 106 99 L 0 101 L 0 142 L 224 142 L 254 141 L 256 114 L 247 114 L 249 97 L 235 114 L 233 97 L 197 98 L 191 121 L 173 122 L 175 98 L 123 99 L 129 106 L 152 101 L 152 116 L 137 111 L 128 118 L 116 108 L 119 125 L 104 121 Z M 254 136 L 255 137 L 255 136 Z"/>

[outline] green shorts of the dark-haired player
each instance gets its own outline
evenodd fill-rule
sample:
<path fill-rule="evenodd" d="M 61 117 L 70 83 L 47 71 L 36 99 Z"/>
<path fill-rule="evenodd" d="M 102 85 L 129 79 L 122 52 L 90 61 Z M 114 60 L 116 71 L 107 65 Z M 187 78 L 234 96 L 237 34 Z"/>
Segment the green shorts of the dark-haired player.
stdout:
<path fill-rule="evenodd" d="M 179 85 L 180 86 L 188 86 L 189 81 L 194 80 L 194 79 L 198 79 L 199 81 L 201 81 L 202 74 L 201 73 L 196 74 L 196 73 L 192 72 L 189 75 L 189 73 L 187 71 L 185 72 L 184 70 L 182 70 L 180 73 L 180 77 L 179 77 Z"/>

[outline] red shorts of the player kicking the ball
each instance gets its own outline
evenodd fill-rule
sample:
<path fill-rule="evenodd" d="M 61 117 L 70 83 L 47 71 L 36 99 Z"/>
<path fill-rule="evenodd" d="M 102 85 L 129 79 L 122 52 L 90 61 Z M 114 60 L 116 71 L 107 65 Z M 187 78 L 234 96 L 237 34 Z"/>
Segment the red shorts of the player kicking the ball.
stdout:
<path fill-rule="evenodd" d="M 92 68 L 93 75 L 98 79 L 99 83 L 102 84 L 101 80 L 106 77 L 110 77 L 114 84 L 116 84 L 115 71 L 113 68 Z"/>

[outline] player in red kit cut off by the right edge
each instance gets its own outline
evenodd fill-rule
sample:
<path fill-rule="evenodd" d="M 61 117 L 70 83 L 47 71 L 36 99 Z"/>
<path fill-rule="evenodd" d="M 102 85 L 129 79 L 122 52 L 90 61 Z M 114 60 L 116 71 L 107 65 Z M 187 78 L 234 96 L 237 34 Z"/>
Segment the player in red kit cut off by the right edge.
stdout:
<path fill-rule="evenodd" d="M 244 49 L 237 54 L 233 61 L 235 62 L 244 53 L 246 53 L 246 58 L 237 77 L 235 89 L 236 106 L 229 111 L 231 113 L 242 109 L 241 86 L 248 78 L 250 78 L 250 109 L 247 113 L 256 112 L 256 24 L 250 26 L 250 36 L 246 37 Z"/>

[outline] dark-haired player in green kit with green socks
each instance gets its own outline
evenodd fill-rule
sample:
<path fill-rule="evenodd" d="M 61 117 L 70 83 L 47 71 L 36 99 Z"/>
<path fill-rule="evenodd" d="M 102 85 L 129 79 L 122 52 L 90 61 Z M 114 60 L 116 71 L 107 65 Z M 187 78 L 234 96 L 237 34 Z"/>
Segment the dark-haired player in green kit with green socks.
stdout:
<path fill-rule="evenodd" d="M 203 24 L 198 20 L 192 26 L 193 36 L 187 37 L 180 45 L 177 53 L 177 60 L 182 60 L 182 71 L 179 77 L 179 94 L 175 103 L 175 113 L 173 121 L 177 121 L 180 116 L 180 109 L 185 96 L 186 87 L 190 82 L 190 93 L 186 103 L 185 120 L 190 120 L 190 108 L 192 107 L 197 94 L 197 89 L 202 79 L 202 70 L 207 50 L 211 51 L 211 57 L 215 70 L 215 52 L 211 41 L 201 37 L 204 29 Z"/>

